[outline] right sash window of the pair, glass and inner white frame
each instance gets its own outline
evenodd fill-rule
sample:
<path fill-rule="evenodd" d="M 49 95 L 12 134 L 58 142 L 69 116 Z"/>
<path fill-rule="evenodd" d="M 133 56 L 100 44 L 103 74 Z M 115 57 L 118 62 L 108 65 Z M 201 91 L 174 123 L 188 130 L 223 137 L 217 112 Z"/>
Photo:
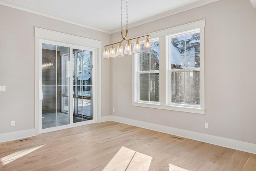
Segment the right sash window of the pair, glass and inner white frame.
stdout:
<path fill-rule="evenodd" d="M 169 37 L 169 105 L 200 108 L 200 30 Z"/>

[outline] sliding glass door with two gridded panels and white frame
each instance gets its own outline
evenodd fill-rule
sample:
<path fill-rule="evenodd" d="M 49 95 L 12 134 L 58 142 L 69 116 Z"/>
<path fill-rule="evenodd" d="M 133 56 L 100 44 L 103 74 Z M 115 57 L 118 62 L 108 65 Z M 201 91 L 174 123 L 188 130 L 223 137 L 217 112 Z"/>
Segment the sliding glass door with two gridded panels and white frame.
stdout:
<path fill-rule="evenodd" d="M 94 119 L 94 53 L 85 47 L 42 43 L 41 132 Z"/>

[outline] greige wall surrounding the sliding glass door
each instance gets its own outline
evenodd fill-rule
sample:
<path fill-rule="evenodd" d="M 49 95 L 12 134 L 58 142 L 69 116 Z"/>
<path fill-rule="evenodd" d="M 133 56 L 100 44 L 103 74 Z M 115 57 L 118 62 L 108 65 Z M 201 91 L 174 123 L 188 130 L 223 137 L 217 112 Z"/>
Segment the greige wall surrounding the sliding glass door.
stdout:
<path fill-rule="evenodd" d="M 0 133 L 35 128 L 34 27 L 110 43 L 110 34 L 0 5 Z M 104 47 L 102 47 L 103 51 Z M 99 57 L 101 58 L 101 57 Z M 110 61 L 102 60 L 102 85 L 110 80 Z M 102 86 L 102 116 L 110 115 L 110 89 Z M 12 120 L 15 127 L 10 127 Z"/>

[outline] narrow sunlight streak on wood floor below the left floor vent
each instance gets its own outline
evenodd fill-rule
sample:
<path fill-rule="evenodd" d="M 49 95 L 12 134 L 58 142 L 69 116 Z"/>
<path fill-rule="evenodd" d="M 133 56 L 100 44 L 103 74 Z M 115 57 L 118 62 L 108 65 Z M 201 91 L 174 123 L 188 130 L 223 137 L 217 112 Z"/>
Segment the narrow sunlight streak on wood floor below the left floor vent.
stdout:
<path fill-rule="evenodd" d="M 32 147 L 32 148 L 16 151 L 16 152 L 14 152 L 14 153 L 12 153 L 10 155 L 2 157 L 0 159 L 0 161 L 1 161 L 2 165 L 6 165 L 6 164 L 8 164 L 8 163 L 10 163 L 10 162 L 12 162 L 12 161 L 14 161 L 14 160 L 24 156 L 24 155 L 27 155 L 28 153 L 31 153 L 32 151 L 35 151 L 35 150 L 43 147 L 44 145 L 38 145 L 36 147 Z"/>

